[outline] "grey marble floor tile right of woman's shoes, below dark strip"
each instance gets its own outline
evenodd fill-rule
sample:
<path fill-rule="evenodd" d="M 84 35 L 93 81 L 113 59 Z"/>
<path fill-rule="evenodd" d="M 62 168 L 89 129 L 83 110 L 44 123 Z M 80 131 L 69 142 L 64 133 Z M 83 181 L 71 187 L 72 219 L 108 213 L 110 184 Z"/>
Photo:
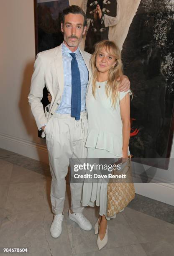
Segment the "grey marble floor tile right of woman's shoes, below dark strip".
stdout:
<path fill-rule="evenodd" d="M 139 243 L 166 240 L 174 237 L 174 225 L 136 210 L 125 208 L 123 215 Z"/>

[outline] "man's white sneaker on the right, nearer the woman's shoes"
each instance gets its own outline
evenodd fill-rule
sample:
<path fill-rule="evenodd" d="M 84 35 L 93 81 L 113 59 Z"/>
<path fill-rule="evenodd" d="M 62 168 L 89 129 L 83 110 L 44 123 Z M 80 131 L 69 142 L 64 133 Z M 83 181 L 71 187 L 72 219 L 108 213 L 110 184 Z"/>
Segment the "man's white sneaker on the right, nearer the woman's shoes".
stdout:
<path fill-rule="evenodd" d="M 90 221 L 87 220 L 87 218 L 85 218 L 82 213 L 71 213 L 71 211 L 69 209 L 68 216 L 69 216 L 70 220 L 75 221 L 79 225 L 80 228 L 82 228 L 84 230 L 91 230 L 92 225 L 91 225 Z"/>

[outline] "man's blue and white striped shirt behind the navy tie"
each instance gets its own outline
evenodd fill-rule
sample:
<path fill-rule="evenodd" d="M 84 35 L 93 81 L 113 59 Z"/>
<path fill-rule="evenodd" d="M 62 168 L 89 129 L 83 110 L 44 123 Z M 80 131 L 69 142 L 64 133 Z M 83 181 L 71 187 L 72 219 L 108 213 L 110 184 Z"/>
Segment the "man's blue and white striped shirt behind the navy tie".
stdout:
<path fill-rule="evenodd" d="M 64 91 L 61 97 L 61 102 L 59 107 L 56 110 L 56 113 L 60 114 L 71 114 L 71 91 L 72 91 L 72 77 L 71 77 L 71 61 L 72 56 L 69 54 L 70 51 L 67 46 L 62 43 L 62 56 L 63 56 L 63 67 L 64 67 Z M 81 81 L 81 112 L 86 110 L 85 107 L 85 95 L 86 88 L 88 82 L 88 70 L 86 64 L 84 63 L 84 59 L 77 48 L 74 51 L 76 54 L 76 59 L 80 72 L 80 81 Z"/>

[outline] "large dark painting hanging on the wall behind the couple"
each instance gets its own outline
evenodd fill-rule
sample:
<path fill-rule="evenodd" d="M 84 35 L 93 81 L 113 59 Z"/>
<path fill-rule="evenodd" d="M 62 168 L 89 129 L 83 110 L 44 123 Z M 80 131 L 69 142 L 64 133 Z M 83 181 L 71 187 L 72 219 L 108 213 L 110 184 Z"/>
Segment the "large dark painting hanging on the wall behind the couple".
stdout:
<path fill-rule="evenodd" d="M 35 0 L 36 54 L 63 41 L 60 13 L 69 3 L 87 15 L 81 49 L 92 53 L 97 41 L 109 39 L 122 50 L 134 94 L 131 154 L 164 159 L 159 167 L 167 169 L 174 130 L 173 0 Z"/>

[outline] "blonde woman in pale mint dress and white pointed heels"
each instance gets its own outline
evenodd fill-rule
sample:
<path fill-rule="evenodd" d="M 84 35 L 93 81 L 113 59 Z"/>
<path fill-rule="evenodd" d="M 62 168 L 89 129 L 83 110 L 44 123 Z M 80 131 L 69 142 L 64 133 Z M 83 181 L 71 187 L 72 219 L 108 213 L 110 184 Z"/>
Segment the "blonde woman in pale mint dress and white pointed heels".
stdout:
<path fill-rule="evenodd" d="M 97 43 L 91 66 L 93 79 L 86 97 L 88 136 L 85 146 L 88 148 L 88 162 L 101 158 L 108 158 L 110 162 L 111 159 L 127 159 L 130 154 L 131 91 L 118 91 L 117 79 L 123 74 L 118 47 L 108 40 Z M 94 206 L 96 202 L 100 206 L 100 217 L 95 224 L 99 249 L 107 243 L 107 220 L 110 219 L 107 217 L 107 182 L 98 179 L 97 183 L 84 182 L 83 185 L 82 204 Z"/>

